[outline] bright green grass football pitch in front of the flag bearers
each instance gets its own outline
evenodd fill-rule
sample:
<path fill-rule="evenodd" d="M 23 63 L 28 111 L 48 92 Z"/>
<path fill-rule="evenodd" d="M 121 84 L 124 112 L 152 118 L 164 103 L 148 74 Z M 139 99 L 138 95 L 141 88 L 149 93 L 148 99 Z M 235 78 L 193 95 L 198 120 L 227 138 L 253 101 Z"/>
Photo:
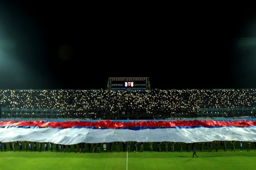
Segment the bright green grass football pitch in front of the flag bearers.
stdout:
<path fill-rule="evenodd" d="M 0 152 L 1 170 L 241 170 L 255 169 L 256 151 L 240 152 Z"/>

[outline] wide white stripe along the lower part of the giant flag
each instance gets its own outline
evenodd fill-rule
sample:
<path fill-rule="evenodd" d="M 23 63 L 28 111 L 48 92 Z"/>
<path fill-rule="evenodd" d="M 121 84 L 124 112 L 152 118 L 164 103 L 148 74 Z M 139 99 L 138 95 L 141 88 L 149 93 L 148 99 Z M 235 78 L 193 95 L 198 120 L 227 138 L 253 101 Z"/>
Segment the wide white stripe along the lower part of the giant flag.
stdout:
<path fill-rule="evenodd" d="M 255 141 L 256 128 L 192 128 L 192 129 L 56 129 L 0 128 L 0 141 L 35 141 L 56 144 L 102 143 L 113 141 L 202 142 L 214 140 Z"/>

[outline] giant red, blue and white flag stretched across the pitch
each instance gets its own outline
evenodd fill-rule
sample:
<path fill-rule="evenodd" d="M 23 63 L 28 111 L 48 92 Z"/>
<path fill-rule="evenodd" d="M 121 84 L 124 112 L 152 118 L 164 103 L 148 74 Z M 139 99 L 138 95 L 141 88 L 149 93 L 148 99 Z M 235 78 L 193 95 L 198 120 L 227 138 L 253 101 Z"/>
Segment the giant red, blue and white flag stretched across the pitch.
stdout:
<path fill-rule="evenodd" d="M 55 144 L 113 141 L 256 140 L 256 120 L 0 121 L 0 141 Z"/>

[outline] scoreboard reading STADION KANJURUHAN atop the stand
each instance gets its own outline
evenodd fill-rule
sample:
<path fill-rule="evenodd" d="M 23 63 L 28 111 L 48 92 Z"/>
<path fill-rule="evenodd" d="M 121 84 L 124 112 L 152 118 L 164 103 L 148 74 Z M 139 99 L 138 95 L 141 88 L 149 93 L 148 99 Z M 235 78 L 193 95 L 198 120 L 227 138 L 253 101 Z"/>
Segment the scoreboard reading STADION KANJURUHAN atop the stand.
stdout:
<path fill-rule="evenodd" d="M 109 90 L 149 90 L 148 78 L 109 78 Z"/>

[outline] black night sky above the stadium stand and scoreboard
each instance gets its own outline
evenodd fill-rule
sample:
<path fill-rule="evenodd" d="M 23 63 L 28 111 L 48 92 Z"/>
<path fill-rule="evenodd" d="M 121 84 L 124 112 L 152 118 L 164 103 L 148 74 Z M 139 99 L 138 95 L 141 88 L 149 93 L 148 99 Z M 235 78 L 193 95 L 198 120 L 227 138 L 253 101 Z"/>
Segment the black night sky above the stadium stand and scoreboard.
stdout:
<path fill-rule="evenodd" d="M 252 5 L 0 2 L 0 88 L 256 88 Z"/>

